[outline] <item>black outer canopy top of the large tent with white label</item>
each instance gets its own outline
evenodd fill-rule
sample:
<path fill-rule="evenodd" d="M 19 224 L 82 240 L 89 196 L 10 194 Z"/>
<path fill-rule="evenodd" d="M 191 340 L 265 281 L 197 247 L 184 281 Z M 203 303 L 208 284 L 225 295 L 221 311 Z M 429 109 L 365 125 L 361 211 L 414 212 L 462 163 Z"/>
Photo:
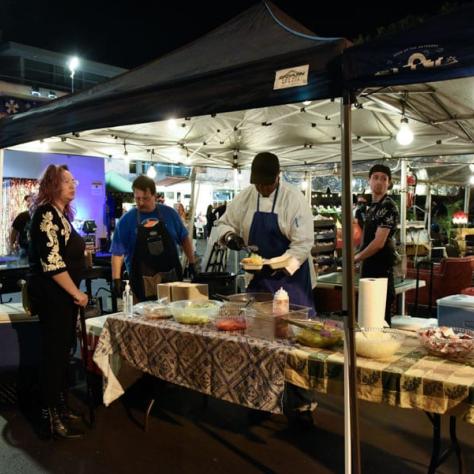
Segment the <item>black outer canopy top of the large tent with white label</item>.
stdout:
<path fill-rule="evenodd" d="M 0 147 L 70 132 L 191 117 L 340 94 L 332 63 L 350 42 L 320 38 L 260 2 L 202 38 L 78 94 L 0 122 Z M 307 85 L 274 90 L 307 65 Z"/>

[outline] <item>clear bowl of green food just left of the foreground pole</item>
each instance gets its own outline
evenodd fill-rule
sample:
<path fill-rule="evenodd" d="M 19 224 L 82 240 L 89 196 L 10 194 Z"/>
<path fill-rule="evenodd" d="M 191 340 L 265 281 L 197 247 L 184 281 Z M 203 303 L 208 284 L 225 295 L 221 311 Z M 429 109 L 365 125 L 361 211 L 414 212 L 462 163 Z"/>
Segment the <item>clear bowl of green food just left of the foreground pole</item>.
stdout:
<path fill-rule="evenodd" d="M 308 320 L 301 326 L 290 323 L 297 342 L 303 346 L 326 348 L 340 344 L 344 331 L 341 324 L 333 320 Z"/>

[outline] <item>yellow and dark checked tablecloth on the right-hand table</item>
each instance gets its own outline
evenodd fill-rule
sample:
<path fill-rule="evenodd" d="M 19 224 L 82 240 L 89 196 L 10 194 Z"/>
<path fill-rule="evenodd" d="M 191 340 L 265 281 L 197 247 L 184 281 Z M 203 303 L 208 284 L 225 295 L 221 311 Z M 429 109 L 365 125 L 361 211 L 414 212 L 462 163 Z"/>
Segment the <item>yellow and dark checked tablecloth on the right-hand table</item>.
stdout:
<path fill-rule="evenodd" d="M 285 379 L 327 394 L 344 392 L 344 356 L 338 350 L 293 348 Z M 474 424 L 474 359 L 467 364 L 429 355 L 407 336 L 390 359 L 357 358 L 358 397 L 375 403 L 459 415 Z"/>

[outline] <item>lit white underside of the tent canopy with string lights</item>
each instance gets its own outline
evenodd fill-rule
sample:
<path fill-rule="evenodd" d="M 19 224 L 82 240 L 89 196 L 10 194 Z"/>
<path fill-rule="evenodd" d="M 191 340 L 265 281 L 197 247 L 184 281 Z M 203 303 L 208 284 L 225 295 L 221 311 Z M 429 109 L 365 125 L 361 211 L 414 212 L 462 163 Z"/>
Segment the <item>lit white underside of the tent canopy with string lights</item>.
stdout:
<path fill-rule="evenodd" d="M 471 84 L 464 78 L 364 90 L 353 107 L 354 161 L 474 154 Z M 402 107 L 415 134 L 405 147 L 395 139 Z M 256 153 L 273 151 L 283 167 L 304 169 L 340 161 L 339 112 L 338 99 L 321 100 L 91 130 L 46 143 L 56 153 L 123 159 L 126 150 L 132 160 L 227 168 L 248 167 Z"/>

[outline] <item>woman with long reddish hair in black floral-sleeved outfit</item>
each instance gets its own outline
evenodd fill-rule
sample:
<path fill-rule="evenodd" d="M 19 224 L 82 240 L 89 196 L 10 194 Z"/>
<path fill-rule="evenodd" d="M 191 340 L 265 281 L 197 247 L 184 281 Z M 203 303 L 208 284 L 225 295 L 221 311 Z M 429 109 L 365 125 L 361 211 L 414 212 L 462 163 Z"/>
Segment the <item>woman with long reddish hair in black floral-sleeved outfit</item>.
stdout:
<path fill-rule="evenodd" d="M 69 354 L 79 306 L 87 305 L 80 288 L 85 243 L 71 224 L 76 181 L 66 165 L 50 165 L 40 180 L 30 225 L 28 293 L 41 330 L 41 438 L 74 439 L 83 433 L 67 405 Z"/>

